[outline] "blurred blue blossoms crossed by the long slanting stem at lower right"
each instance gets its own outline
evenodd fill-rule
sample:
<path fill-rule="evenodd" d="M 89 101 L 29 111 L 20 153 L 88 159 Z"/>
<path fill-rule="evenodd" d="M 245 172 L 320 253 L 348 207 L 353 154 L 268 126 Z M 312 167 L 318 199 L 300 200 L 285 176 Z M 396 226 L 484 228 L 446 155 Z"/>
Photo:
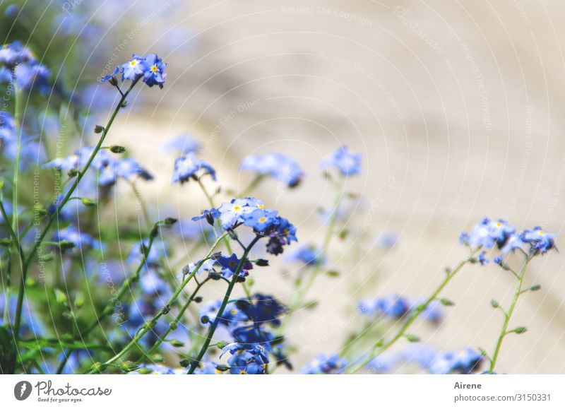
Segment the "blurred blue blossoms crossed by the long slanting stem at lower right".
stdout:
<path fill-rule="evenodd" d="M 374 300 L 362 300 L 359 302 L 358 309 L 362 315 L 405 319 L 421 304 L 419 300 L 410 302 L 404 297 L 391 294 Z M 422 312 L 422 318 L 435 323 L 441 321 L 442 315 L 441 304 L 435 300 L 430 302 Z"/>

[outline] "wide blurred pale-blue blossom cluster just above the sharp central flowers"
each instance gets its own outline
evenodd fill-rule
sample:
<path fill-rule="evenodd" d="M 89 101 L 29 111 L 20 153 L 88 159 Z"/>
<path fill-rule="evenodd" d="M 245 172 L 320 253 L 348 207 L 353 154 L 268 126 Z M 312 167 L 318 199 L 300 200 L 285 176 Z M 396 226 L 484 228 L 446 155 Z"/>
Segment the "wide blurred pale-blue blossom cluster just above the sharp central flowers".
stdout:
<path fill-rule="evenodd" d="M 269 174 L 289 187 L 297 186 L 304 174 L 296 160 L 282 153 L 249 156 L 242 162 L 242 170 Z"/>

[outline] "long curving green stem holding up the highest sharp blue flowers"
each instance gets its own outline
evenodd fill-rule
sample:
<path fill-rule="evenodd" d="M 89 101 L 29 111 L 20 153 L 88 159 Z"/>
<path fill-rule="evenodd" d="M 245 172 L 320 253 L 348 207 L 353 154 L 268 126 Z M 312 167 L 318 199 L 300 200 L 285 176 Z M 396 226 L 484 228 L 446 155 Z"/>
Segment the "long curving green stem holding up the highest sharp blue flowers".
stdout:
<path fill-rule="evenodd" d="M 119 110 L 121 109 L 121 107 L 123 107 L 124 101 L 126 100 L 126 97 L 129 95 L 131 90 L 133 90 L 133 87 L 136 85 L 136 83 L 138 83 L 140 78 L 141 77 L 138 77 L 135 80 L 133 80 L 131 85 L 129 86 L 128 90 L 124 93 L 124 95 L 121 96 L 120 100 L 117 103 L 117 106 L 114 108 L 114 112 L 112 112 L 112 116 L 109 118 L 108 123 L 106 124 L 106 126 L 104 128 L 104 131 L 102 131 L 102 134 L 100 136 L 100 140 L 97 143 L 97 146 L 93 150 L 93 153 L 90 155 L 90 158 L 88 158 L 88 162 L 86 162 L 86 165 L 83 167 L 83 170 L 81 170 L 81 172 L 78 172 L 78 174 L 76 175 L 76 179 L 73 182 L 73 184 L 71 185 L 71 188 L 69 189 L 69 191 L 67 192 L 66 196 L 63 198 L 63 200 L 61 201 L 59 206 L 57 206 L 57 209 L 55 210 L 54 214 L 47 221 L 47 224 L 43 228 L 40 236 L 35 241 L 35 244 L 32 247 L 30 254 L 28 254 L 28 258 L 25 259 L 25 262 L 23 263 L 22 275 L 21 275 L 21 280 L 20 280 L 20 288 L 18 290 L 18 303 L 16 304 L 16 322 L 14 324 L 14 338 L 16 338 L 16 341 L 18 340 L 18 338 L 20 336 L 20 324 L 21 324 L 21 314 L 22 314 L 22 307 L 23 307 L 23 295 L 24 295 L 24 292 L 25 292 L 25 279 L 27 278 L 27 275 L 28 275 L 28 268 L 30 266 L 31 259 L 37 253 L 37 249 L 39 249 L 39 247 L 41 246 L 43 239 L 47 235 L 47 232 L 49 232 L 49 229 L 53 225 L 54 221 L 57 219 L 57 216 L 59 215 L 61 210 L 64 208 L 66 203 L 69 201 L 69 198 L 71 198 L 73 196 L 73 193 L 74 193 L 76 187 L 78 186 L 78 183 L 81 182 L 86 171 L 88 170 L 88 168 L 92 164 L 95 156 L 97 155 L 98 151 L 102 147 L 102 143 L 104 143 L 104 139 L 106 138 L 109 129 L 112 127 L 112 124 L 114 123 L 114 119 L 116 119 Z M 16 213 L 16 209 L 14 209 L 14 213 Z"/>

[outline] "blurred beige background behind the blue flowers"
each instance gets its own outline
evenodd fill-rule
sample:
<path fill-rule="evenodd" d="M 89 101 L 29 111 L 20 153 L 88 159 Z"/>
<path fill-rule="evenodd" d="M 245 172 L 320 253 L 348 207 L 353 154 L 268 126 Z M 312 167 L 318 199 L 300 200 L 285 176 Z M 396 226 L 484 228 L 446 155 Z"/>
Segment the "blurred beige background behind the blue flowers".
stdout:
<path fill-rule="evenodd" d="M 347 225 L 369 228 L 333 242 L 332 261 L 343 274 L 317 280 L 311 298 L 319 307 L 293 320 L 292 342 L 314 345 L 292 357 L 297 367 L 314 351 L 339 348 L 359 297 L 431 292 L 443 266 L 465 256 L 460 230 L 484 215 L 563 232 L 562 1 L 169 3 L 166 27 L 132 44 L 132 51 L 164 54 L 163 42 L 179 42 L 162 55 L 165 89 L 147 95 L 157 105 L 122 118 L 112 135 L 158 171 L 146 191 L 159 208 L 189 216 L 207 207 L 197 186 L 170 185 L 172 157 L 158 148 L 188 131 L 217 166 L 222 186 L 249 183 L 239 162 L 251 153 L 297 158 L 307 173 L 299 189 L 263 182 L 256 196 L 295 222 L 302 243 L 321 242 L 315 209 L 333 194 L 319 162 L 340 143 L 364 154 L 362 176 L 347 182 L 347 191 L 363 196 Z M 167 37 L 179 27 L 191 32 Z M 388 231 L 400 235 L 398 247 L 369 251 Z M 355 240 L 362 250 L 352 253 Z M 529 331 L 506 338 L 500 372 L 565 372 L 564 264 L 557 252 L 532 263 L 526 281 L 542 290 L 518 304 L 511 325 Z M 369 283 L 377 270 L 378 285 Z M 292 300 L 284 270 L 254 277 L 259 290 Z M 513 285 L 498 268 L 470 266 L 445 293 L 456 306 L 444 324 L 412 332 L 442 350 L 492 350 L 501 316 L 489 300 L 508 303 Z M 219 295 L 214 291 L 210 296 Z"/>

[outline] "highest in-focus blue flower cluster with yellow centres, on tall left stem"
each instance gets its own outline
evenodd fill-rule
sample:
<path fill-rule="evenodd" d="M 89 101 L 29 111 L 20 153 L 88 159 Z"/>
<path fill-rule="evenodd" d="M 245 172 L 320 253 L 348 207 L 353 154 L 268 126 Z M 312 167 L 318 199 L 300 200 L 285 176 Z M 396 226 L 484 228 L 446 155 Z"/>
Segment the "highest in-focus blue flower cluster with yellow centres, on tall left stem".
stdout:
<path fill-rule="evenodd" d="M 147 54 L 145 57 L 133 54 L 131 61 L 123 64 L 121 68 L 117 66 L 114 72 L 104 76 L 101 81 L 110 81 L 116 85 L 116 76 L 121 73 L 121 81 L 137 81 L 139 78 L 143 78 L 143 82 L 149 87 L 159 85 L 159 88 L 163 88 L 167 76 L 167 73 L 165 73 L 166 66 L 167 64 L 157 57 L 157 54 Z"/>

